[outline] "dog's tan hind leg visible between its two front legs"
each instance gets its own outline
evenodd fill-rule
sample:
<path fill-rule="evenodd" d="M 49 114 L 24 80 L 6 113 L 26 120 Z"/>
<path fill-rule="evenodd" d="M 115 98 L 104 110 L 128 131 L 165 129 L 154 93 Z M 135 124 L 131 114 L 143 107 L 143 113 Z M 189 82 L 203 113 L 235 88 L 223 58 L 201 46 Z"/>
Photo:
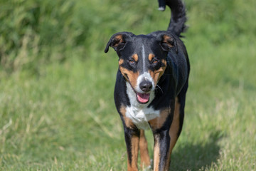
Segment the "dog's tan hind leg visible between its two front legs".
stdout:
<path fill-rule="evenodd" d="M 144 134 L 144 130 L 140 130 L 140 138 L 139 138 L 139 151 L 141 157 L 141 167 L 142 170 L 150 166 L 150 157 L 148 145 L 146 142 L 146 137 Z"/>

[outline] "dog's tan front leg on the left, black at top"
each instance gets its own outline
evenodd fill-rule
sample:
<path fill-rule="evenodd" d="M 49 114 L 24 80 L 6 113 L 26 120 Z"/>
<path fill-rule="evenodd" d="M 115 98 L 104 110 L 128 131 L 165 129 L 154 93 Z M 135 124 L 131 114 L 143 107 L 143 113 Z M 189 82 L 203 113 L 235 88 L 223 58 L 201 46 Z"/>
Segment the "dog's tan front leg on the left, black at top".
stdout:
<path fill-rule="evenodd" d="M 124 125 L 124 138 L 127 145 L 127 170 L 137 171 L 139 153 L 139 129 L 136 127 L 126 127 Z"/>

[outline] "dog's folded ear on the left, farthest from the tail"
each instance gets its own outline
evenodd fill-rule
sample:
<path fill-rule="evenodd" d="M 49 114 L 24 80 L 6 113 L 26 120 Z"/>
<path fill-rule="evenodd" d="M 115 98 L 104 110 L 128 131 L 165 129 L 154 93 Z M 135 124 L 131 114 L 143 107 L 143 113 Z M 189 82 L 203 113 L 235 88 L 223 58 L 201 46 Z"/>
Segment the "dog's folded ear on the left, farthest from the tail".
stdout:
<path fill-rule="evenodd" d="M 129 40 L 129 38 L 132 38 L 132 36 L 134 36 L 134 34 L 130 32 L 115 33 L 110 38 L 110 41 L 107 43 L 105 53 L 108 52 L 110 46 L 114 48 L 114 51 L 121 51 L 122 49 L 124 49 L 127 41 Z"/>

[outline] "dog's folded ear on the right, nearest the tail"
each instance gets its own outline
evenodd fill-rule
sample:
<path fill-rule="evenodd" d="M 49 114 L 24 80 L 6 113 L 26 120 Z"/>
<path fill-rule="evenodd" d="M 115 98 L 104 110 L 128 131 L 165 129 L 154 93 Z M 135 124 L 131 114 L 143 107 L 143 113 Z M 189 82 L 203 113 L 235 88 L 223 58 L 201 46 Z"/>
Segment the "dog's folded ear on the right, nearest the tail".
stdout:
<path fill-rule="evenodd" d="M 178 53 L 178 46 L 176 38 L 166 31 L 160 32 L 156 36 L 156 40 L 159 41 L 161 48 L 163 51 L 170 51 L 171 48 L 175 48 L 176 53 Z"/>

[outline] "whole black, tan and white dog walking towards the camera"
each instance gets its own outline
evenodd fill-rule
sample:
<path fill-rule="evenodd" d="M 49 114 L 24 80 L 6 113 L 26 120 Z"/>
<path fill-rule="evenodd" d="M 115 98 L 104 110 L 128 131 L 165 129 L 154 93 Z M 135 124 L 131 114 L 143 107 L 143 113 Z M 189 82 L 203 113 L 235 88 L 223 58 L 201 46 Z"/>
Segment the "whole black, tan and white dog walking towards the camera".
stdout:
<path fill-rule="evenodd" d="M 124 125 L 128 170 L 150 167 L 144 130 L 154 134 L 154 170 L 169 170 L 171 151 L 181 133 L 188 88 L 189 61 L 179 38 L 186 28 L 180 0 L 159 0 L 159 9 L 171 8 L 167 31 L 147 35 L 115 33 L 107 43 L 119 56 L 114 102 Z"/>

